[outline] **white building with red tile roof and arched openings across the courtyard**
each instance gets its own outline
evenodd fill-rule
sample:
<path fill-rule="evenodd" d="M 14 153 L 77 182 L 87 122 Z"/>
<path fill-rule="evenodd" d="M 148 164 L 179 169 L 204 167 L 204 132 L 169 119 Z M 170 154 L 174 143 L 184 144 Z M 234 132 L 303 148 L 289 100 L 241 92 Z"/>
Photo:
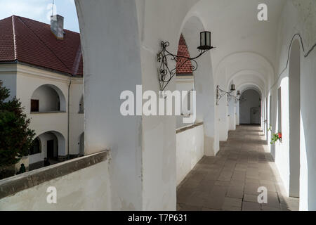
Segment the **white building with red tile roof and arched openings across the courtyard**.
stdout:
<path fill-rule="evenodd" d="M 0 20 L 0 79 L 31 119 L 36 139 L 23 158 L 30 170 L 84 155 L 83 62 L 80 34 L 13 15 Z M 54 23 L 61 26 L 59 33 Z M 16 165 L 17 169 L 20 167 Z"/>

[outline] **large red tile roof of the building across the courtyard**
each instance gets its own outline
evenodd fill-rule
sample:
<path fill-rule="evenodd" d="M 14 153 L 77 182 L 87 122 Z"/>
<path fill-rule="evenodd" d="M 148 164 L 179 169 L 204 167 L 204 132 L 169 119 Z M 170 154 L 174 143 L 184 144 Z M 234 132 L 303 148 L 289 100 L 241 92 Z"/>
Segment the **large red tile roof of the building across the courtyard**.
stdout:
<path fill-rule="evenodd" d="M 84 75 L 80 34 L 65 30 L 64 39 L 51 25 L 13 15 L 0 20 L 0 62 L 28 63 L 70 75 Z"/>

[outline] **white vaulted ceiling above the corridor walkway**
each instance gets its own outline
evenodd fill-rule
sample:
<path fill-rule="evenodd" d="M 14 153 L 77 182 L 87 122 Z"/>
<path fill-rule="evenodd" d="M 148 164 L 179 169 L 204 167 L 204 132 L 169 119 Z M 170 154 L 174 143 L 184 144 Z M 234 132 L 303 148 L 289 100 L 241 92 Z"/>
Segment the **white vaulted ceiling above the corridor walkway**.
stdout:
<path fill-rule="evenodd" d="M 268 6 L 268 21 L 259 21 L 258 5 Z M 275 79 L 277 29 L 286 0 L 201 0 L 186 19 L 198 16 L 212 32 L 211 51 L 215 82 L 226 82 L 254 74 L 254 84 L 264 85 Z M 250 72 L 251 73 L 251 72 Z M 259 75 L 259 77 L 258 77 Z M 256 79 L 257 78 L 257 79 Z M 246 82 L 246 80 L 245 80 Z M 242 84 L 240 84 L 242 85 Z"/>

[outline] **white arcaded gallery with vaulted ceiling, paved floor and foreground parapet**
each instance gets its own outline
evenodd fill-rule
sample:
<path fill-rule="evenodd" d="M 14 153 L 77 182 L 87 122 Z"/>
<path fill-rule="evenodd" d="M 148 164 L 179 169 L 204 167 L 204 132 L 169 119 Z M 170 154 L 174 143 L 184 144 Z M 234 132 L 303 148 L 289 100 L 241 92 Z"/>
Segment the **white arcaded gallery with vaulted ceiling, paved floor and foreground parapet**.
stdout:
<path fill-rule="evenodd" d="M 262 4 L 267 20 L 258 18 Z M 316 210 L 315 0 L 75 5 L 84 60 L 84 157 L 0 181 L 0 208 Z M 142 115 L 152 100 L 141 99 L 143 93 L 162 89 L 162 41 L 177 53 L 183 35 L 195 57 L 206 46 L 201 33 L 209 34 L 210 51 L 191 76 L 174 76 L 165 89 L 196 91 L 195 122 L 183 127 L 176 116 Z M 176 67 L 175 58 L 166 61 Z M 134 115 L 120 113 L 124 91 L 140 96 Z M 247 105 L 251 96 L 255 105 Z M 60 191 L 58 205 L 46 204 L 47 186 Z M 256 203 L 261 186 L 268 188 L 267 204 Z"/>

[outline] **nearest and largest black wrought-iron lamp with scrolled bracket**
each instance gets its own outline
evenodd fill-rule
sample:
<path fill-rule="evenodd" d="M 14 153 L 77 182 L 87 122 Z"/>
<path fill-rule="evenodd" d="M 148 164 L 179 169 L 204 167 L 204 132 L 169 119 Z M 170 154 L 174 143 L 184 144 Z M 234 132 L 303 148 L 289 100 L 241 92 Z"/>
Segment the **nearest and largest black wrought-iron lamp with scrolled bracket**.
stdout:
<path fill-rule="evenodd" d="M 187 61 L 191 61 L 192 63 L 192 72 L 197 70 L 197 61 L 196 59 L 202 56 L 206 51 L 214 49 L 211 46 L 211 32 L 204 31 L 200 33 L 200 46 L 197 47 L 199 49 L 199 55 L 193 58 L 185 57 L 185 56 L 177 56 L 173 53 L 170 53 L 167 48 L 169 46 L 168 41 L 162 41 L 161 47 L 162 51 L 160 51 L 157 55 L 157 68 L 158 68 L 158 79 L 160 84 L 160 91 L 164 91 L 166 86 L 169 84 L 171 79 L 176 75 L 176 71 L 187 63 Z M 181 59 L 185 59 L 184 62 L 181 62 Z M 176 68 L 170 69 L 168 66 L 168 61 L 172 60 L 176 63 L 181 62 L 179 65 L 176 65 Z"/>

